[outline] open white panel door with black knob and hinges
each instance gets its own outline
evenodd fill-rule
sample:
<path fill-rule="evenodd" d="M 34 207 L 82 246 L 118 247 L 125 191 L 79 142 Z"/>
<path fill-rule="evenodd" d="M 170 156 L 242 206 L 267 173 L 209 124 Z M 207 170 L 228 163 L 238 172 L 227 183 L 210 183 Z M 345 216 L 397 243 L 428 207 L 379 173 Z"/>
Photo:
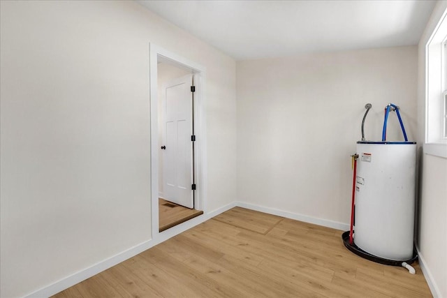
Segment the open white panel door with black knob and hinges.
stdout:
<path fill-rule="evenodd" d="M 164 87 L 163 193 L 166 200 L 193 208 L 193 94 L 192 75 Z"/>

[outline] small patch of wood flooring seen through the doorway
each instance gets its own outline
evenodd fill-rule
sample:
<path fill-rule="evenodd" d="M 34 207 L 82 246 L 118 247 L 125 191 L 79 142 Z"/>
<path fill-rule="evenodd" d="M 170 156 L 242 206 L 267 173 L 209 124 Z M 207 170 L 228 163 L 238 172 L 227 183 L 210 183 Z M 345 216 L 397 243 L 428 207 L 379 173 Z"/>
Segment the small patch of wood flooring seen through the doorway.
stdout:
<path fill-rule="evenodd" d="M 173 202 L 159 198 L 159 231 L 163 232 L 173 226 L 203 214 L 203 211 L 189 209 Z"/>

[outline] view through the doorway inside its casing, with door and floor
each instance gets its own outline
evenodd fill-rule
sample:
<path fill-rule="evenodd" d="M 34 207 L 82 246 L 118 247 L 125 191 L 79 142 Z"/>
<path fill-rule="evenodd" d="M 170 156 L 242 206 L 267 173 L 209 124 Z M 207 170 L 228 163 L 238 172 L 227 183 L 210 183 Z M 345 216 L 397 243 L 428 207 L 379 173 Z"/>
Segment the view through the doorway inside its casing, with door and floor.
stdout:
<path fill-rule="evenodd" d="M 203 214 L 195 208 L 194 71 L 158 57 L 159 232 Z"/>

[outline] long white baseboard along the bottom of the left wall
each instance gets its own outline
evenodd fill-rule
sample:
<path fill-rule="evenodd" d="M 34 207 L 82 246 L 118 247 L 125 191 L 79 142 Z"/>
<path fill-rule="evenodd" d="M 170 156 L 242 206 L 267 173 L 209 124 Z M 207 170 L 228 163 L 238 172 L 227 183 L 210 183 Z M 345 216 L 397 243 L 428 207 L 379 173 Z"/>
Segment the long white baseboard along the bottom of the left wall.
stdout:
<path fill-rule="evenodd" d="M 157 244 L 160 244 L 161 242 L 166 241 L 169 238 L 174 237 L 177 234 L 180 234 L 181 232 L 189 230 L 190 228 L 193 228 L 194 226 L 203 223 L 204 221 L 207 221 L 208 219 L 217 216 L 222 212 L 225 212 L 235 206 L 236 206 L 235 202 L 232 202 L 219 209 L 210 211 L 207 214 L 202 214 L 200 216 L 197 216 L 196 218 L 192 218 L 189 221 L 176 225 L 173 228 L 170 228 L 166 231 L 163 231 L 155 235 L 153 239 L 149 239 L 145 242 L 142 242 L 141 244 L 138 244 L 136 246 L 127 249 L 126 251 L 122 251 L 122 253 L 118 253 L 117 255 L 107 258 L 101 262 L 98 262 L 91 267 L 88 267 L 86 269 L 76 272 L 75 274 L 62 278 L 61 280 L 52 283 L 51 285 L 47 285 L 46 287 L 41 288 L 40 290 L 31 292 L 31 294 L 26 295 L 25 297 L 27 298 L 50 297 L 52 295 L 55 295 L 58 292 L 65 290 L 66 288 L 70 288 L 71 286 L 80 283 L 81 281 L 85 281 L 87 278 L 90 278 L 91 276 L 94 276 L 106 269 L 109 269 L 110 267 L 113 267 L 119 264 L 120 262 L 123 262 L 124 260 L 130 259 L 133 256 L 138 255 L 138 253 L 142 253 L 143 251 L 146 251 L 147 249 L 156 246 Z"/>

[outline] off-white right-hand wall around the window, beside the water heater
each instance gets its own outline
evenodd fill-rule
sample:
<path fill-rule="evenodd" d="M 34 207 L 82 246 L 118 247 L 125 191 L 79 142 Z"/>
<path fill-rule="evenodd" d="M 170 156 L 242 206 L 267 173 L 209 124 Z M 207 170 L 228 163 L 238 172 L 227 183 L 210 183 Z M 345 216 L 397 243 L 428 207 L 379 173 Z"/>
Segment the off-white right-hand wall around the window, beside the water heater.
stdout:
<path fill-rule="evenodd" d="M 418 142 L 425 141 L 425 45 L 447 8 L 438 1 L 418 46 Z M 435 297 L 447 297 L 447 158 L 420 150 L 417 245 Z"/>

